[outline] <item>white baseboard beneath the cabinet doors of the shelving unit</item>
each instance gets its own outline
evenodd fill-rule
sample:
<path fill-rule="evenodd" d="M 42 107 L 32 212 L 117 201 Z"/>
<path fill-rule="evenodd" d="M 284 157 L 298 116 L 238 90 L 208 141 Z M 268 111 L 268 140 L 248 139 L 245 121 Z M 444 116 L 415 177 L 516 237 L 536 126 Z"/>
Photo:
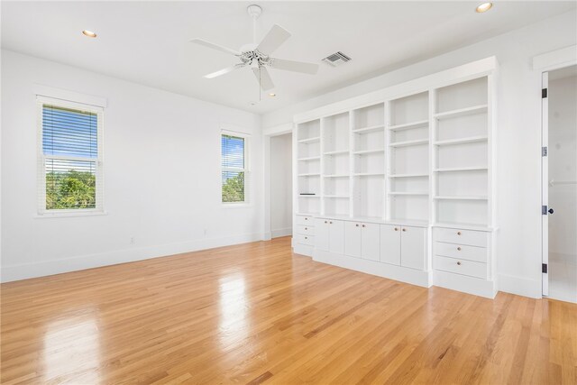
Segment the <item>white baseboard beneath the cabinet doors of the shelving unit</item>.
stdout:
<path fill-rule="evenodd" d="M 429 273 L 423 270 L 409 269 L 378 261 L 363 260 L 342 254 L 334 254 L 333 252 L 323 252 L 317 249 L 314 251 L 313 260 L 388 278 L 390 280 L 399 280 L 424 288 L 431 286 Z"/>

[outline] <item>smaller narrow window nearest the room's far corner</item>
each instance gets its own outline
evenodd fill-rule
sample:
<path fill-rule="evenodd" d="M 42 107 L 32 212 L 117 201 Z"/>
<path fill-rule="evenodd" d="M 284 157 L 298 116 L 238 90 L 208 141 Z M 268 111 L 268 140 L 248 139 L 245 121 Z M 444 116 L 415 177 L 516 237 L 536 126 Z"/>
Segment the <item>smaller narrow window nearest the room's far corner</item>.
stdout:
<path fill-rule="evenodd" d="M 223 203 L 248 202 L 247 142 L 248 138 L 239 133 L 221 135 Z"/>

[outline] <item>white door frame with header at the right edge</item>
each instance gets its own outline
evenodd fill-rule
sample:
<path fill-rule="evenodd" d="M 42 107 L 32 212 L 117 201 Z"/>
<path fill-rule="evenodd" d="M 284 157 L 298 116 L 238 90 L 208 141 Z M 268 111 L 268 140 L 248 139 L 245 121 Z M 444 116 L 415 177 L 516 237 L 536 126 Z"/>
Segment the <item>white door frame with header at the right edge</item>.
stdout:
<path fill-rule="evenodd" d="M 533 70 L 539 76 L 539 89 L 536 90 L 539 94 L 543 92 L 544 88 L 548 87 L 548 72 L 555 69 L 563 69 L 577 65 L 577 45 L 565 47 L 560 50 L 553 50 L 551 52 L 538 55 L 533 58 Z M 548 96 L 548 95 L 547 95 Z M 547 147 L 549 142 L 549 103 L 548 97 L 541 96 L 541 146 Z M 549 209 L 549 159 L 547 156 L 541 157 L 541 205 L 547 206 Z M 542 216 L 542 267 L 543 264 L 549 264 L 549 215 Z M 542 272 L 542 295 L 546 297 L 549 294 L 549 275 Z"/>

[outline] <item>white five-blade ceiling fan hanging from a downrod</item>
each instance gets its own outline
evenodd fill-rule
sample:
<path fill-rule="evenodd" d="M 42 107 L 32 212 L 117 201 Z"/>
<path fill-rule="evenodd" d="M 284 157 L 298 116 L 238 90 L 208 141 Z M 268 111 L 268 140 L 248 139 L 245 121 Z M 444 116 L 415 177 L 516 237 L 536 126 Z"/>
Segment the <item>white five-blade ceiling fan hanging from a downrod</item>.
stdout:
<path fill-rule="evenodd" d="M 193 39 L 191 42 L 203 45 L 213 50 L 220 50 L 226 53 L 233 54 L 236 56 L 240 63 L 234 66 L 220 69 L 218 71 L 212 72 L 205 75 L 205 78 L 216 78 L 234 71 L 235 69 L 243 69 L 249 67 L 252 69 L 254 76 L 259 81 L 259 84 L 263 91 L 267 91 L 274 88 L 274 83 L 270 78 L 268 68 L 272 69 L 283 69 L 286 71 L 301 72 L 305 74 L 314 75 L 318 70 L 318 64 L 306 63 L 304 61 L 295 60 L 285 60 L 276 59 L 270 57 L 270 54 L 277 50 L 280 45 L 287 41 L 290 37 L 290 32 L 274 24 L 270 28 L 269 33 L 261 40 L 260 43 L 256 43 L 256 20 L 262 14 L 262 8 L 259 5 L 249 5 L 247 8 L 248 14 L 252 17 L 252 43 L 245 44 L 240 50 L 233 50 L 221 45 L 215 44 L 214 42 L 205 41 L 202 39 Z"/>

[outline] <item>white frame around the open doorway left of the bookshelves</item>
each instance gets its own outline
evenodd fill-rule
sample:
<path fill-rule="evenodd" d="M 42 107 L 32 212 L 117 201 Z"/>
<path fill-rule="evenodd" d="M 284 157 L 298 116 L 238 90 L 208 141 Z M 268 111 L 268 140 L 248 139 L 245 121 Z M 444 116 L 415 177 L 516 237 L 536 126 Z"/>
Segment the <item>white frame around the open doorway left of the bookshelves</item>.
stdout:
<path fill-rule="evenodd" d="M 263 215 L 264 215 L 264 234 L 262 234 L 263 241 L 270 241 L 272 238 L 272 229 L 270 228 L 270 138 L 273 136 L 284 135 L 286 133 L 292 133 L 293 124 L 279 124 L 274 127 L 270 128 L 263 128 L 262 129 L 262 155 L 263 155 L 263 166 L 264 166 L 264 207 L 263 207 Z M 293 143 L 295 140 L 295 135 L 293 135 Z M 293 144 L 294 147 L 294 144 Z M 292 170 L 293 175 L 295 169 L 295 157 L 294 157 L 294 148 L 293 148 L 293 157 L 292 157 Z M 294 177 L 293 177 L 294 179 Z M 293 180 L 294 183 L 294 180 Z M 296 186 L 296 185 L 293 185 Z M 292 191 L 291 191 L 292 195 Z M 294 202 L 293 202 L 294 205 Z M 294 206 L 293 206 L 294 207 Z M 293 210 L 294 211 L 294 210 Z"/>

